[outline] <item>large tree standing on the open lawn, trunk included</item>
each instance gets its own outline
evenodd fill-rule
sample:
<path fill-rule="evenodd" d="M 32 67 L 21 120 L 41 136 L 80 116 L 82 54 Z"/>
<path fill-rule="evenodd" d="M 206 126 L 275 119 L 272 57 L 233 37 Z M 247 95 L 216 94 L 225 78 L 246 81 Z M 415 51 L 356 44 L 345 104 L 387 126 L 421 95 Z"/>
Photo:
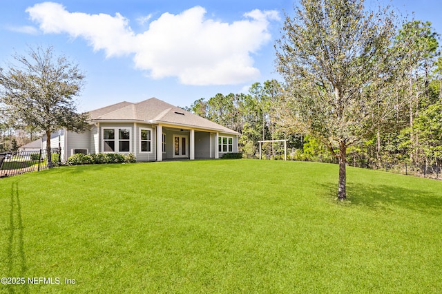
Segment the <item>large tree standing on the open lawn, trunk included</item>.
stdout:
<path fill-rule="evenodd" d="M 396 20 L 390 8 L 367 12 L 363 0 L 300 4 L 294 17 L 286 14 L 276 43 L 289 107 L 282 113 L 338 158 L 338 198 L 344 200 L 347 148 L 373 134 L 386 113 L 379 107 L 393 108 L 380 94 L 395 76 L 390 47 Z"/>

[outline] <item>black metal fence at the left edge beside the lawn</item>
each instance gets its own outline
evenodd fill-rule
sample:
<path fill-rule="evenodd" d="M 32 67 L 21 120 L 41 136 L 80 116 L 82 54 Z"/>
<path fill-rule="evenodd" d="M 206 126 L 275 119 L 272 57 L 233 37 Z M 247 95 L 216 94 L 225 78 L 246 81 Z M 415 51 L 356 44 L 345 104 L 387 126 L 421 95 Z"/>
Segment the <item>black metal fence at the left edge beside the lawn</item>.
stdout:
<path fill-rule="evenodd" d="M 61 164 L 61 149 L 50 150 L 52 165 Z M 0 154 L 0 178 L 48 169 L 46 149 Z"/>

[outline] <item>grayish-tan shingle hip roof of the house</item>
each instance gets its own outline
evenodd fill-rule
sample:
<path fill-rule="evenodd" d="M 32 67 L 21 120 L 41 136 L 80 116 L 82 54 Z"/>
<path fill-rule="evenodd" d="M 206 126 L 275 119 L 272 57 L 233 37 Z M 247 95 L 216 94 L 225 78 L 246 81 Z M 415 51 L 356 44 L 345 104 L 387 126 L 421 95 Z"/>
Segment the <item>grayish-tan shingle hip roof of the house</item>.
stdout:
<path fill-rule="evenodd" d="M 150 98 L 139 103 L 121 102 L 89 112 L 93 121 L 129 120 L 146 123 L 166 123 L 177 127 L 195 127 L 215 130 L 229 134 L 238 134 L 218 123 L 213 123 L 180 107 L 173 106 L 157 98 Z"/>

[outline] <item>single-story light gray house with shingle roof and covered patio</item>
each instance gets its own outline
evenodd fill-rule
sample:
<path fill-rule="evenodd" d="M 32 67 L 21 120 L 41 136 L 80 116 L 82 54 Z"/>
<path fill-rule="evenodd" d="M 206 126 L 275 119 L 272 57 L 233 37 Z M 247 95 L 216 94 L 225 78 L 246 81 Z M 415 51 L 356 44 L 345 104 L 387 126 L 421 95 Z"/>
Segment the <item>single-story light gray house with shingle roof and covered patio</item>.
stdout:
<path fill-rule="evenodd" d="M 124 101 L 89 115 L 90 130 L 84 133 L 66 129 L 52 133 L 51 147 L 61 148 L 62 161 L 76 153 L 135 154 L 143 162 L 220 158 L 238 152 L 238 132 L 157 98 Z"/>

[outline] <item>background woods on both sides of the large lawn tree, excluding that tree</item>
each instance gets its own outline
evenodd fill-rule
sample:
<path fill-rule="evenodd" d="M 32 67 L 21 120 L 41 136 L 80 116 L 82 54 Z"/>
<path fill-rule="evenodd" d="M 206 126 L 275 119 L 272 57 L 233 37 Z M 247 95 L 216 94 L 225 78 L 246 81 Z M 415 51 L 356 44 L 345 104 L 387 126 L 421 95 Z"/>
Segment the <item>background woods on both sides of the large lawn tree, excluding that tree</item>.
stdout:
<path fill-rule="evenodd" d="M 403 72 L 396 77 L 395 87 L 381 93 L 383 103 L 391 104 L 389 112 L 381 116 L 365 140 L 348 149 L 350 165 L 383 168 L 407 162 L 441 167 L 442 58 L 438 39 L 429 22 L 411 21 L 398 30 L 394 42 L 410 48 L 410 60 L 402 61 Z M 184 108 L 240 132 L 240 150 L 247 158 L 258 156 L 258 140 L 287 139 L 291 159 L 336 162 L 325 144 L 302 133 L 298 123 L 287 118 L 296 112 L 285 104 L 285 95 L 281 82 L 273 79 L 253 83 L 246 94 L 218 93 Z M 272 149 L 272 158 L 281 158 L 281 145 L 277 148 Z"/>

